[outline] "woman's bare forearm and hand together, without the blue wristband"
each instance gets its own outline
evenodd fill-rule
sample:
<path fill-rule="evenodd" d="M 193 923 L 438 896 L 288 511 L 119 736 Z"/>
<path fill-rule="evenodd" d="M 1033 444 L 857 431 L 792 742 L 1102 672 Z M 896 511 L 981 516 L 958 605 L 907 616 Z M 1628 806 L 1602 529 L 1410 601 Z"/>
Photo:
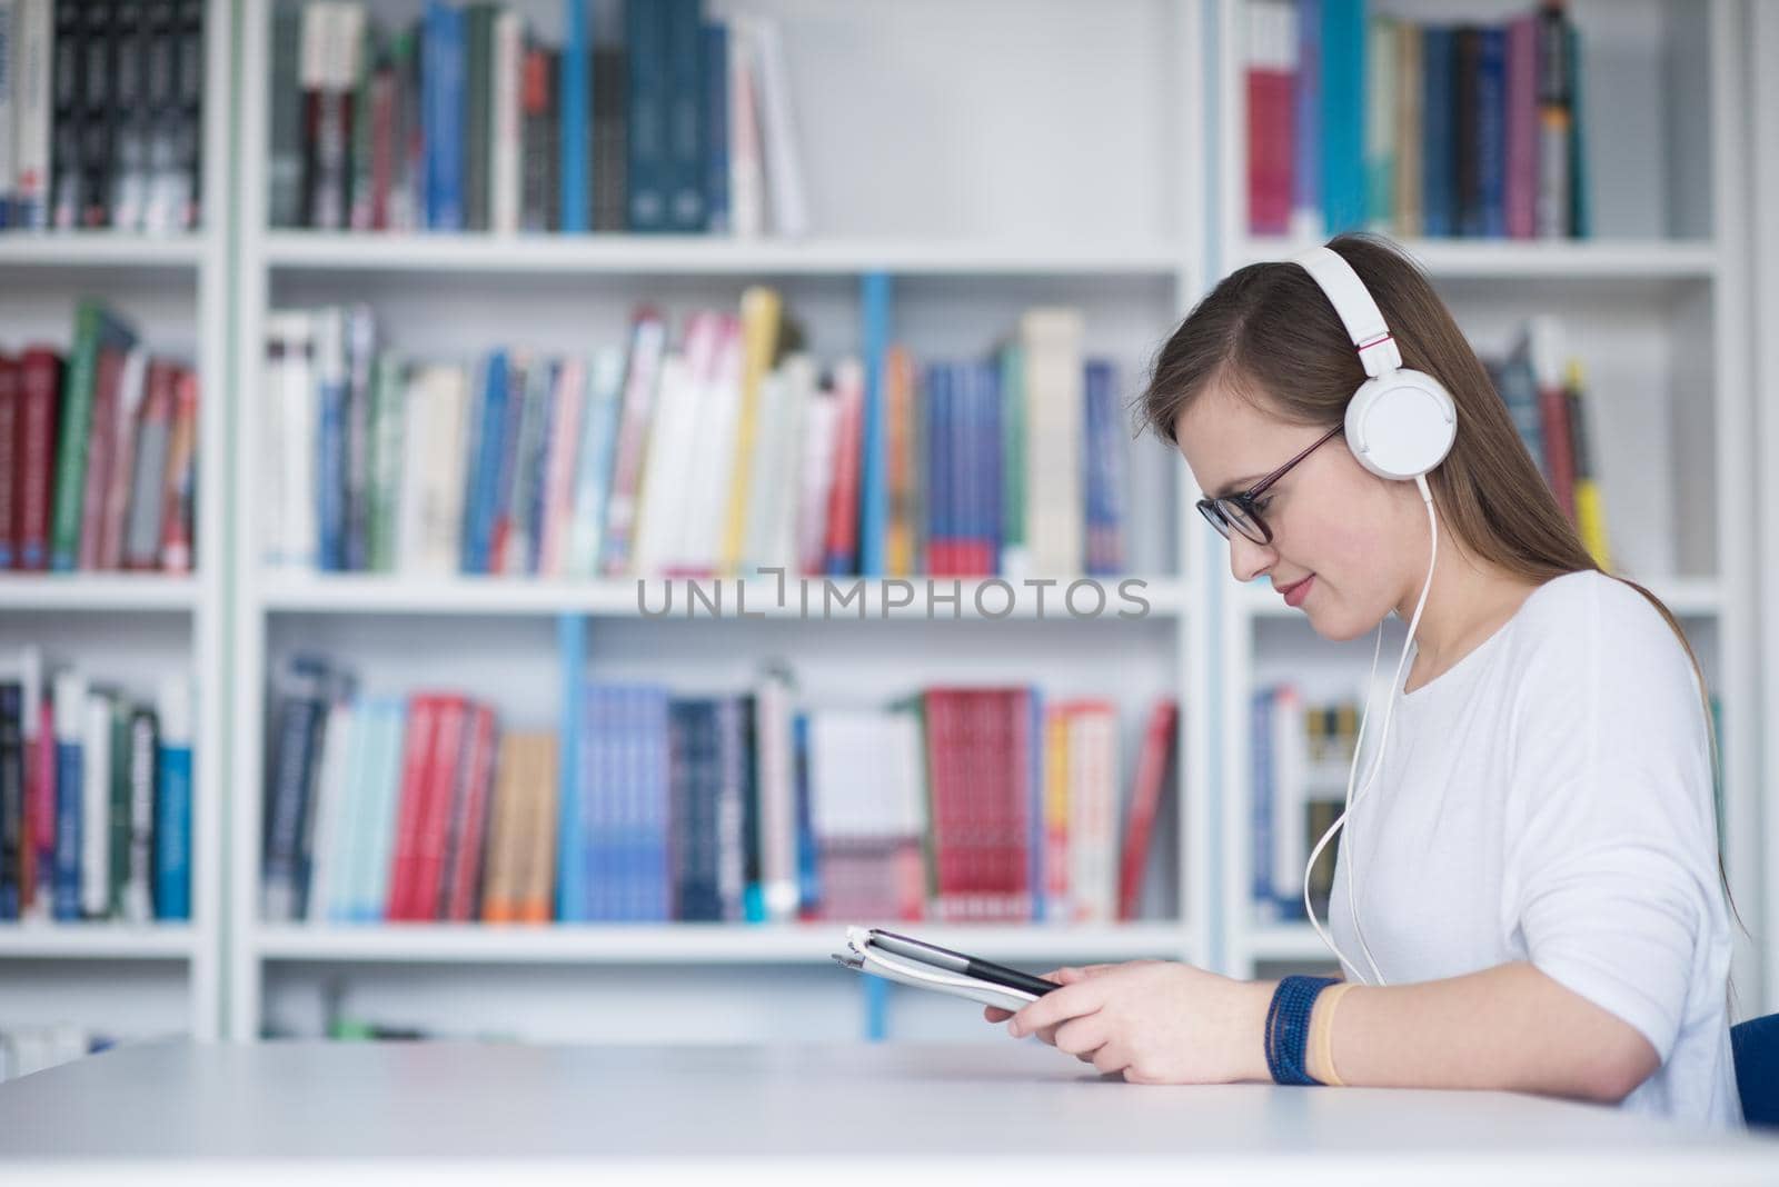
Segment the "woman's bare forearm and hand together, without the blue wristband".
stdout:
<path fill-rule="evenodd" d="M 1162 961 L 1062 974 L 1055 979 L 1064 988 L 1012 1016 L 1014 1036 L 1037 1034 L 1135 1082 L 1270 1079 L 1263 1034 L 1274 983 Z M 1327 1000 L 1316 999 L 1313 1032 L 1325 1025 Z M 1332 1056 L 1348 1086 L 1493 1087 L 1601 1102 L 1622 1100 L 1660 1066 L 1640 1031 L 1530 963 L 1354 986 L 1334 1009 Z M 1311 1063 L 1311 1075 L 1329 1079 L 1318 1071 L 1325 1070 Z"/>

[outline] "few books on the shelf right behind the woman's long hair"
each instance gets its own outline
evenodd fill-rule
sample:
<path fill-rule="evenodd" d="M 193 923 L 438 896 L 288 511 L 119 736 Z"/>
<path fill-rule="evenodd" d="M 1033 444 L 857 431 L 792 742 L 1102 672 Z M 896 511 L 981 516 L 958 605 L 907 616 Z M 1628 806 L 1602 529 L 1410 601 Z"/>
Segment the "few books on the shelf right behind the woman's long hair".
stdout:
<path fill-rule="evenodd" d="M 1582 533 L 1594 562 L 1612 570 L 1606 505 L 1599 487 L 1582 361 L 1564 348 L 1562 322 L 1528 318 L 1514 348 L 1484 359 L 1514 428 L 1550 482 L 1564 514 Z"/>

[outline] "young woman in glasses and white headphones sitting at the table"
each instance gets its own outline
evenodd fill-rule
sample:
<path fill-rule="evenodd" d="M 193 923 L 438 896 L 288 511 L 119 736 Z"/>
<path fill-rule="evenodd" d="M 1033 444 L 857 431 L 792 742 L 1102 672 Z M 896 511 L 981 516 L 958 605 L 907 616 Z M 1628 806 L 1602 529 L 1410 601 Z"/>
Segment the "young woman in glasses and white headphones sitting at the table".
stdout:
<path fill-rule="evenodd" d="M 1331 640 L 1411 624 L 1348 785 L 1345 979 L 1062 968 L 987 1018 L 1139 1082 L 1523 1089 L 1740 1127 L 1697 661 L 1594 565 L 1420 270 L 1340 236 L 1235 272 L 1163 347 L 1144 418 L 1217 496 L 1238 581 Z"/>

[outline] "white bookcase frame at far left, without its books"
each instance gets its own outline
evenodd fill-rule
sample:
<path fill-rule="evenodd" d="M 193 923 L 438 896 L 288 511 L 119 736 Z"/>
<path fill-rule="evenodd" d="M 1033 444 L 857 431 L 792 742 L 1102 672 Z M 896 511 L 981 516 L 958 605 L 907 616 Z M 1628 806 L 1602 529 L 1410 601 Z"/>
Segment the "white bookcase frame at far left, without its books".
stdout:
<path fill-rule="evenodd" d="M 205 5 L 203 224 L 176 235 L 0 233 L 0 336 L 66 350 L 82 297 L 103 297 L 157 355 L 197 371 L 196 565 L 157 572 L 0 574 L 0 654 L 37 645 L 46 670 L 151 693 L 192 675 L 190 922 L 0 924 L 0 1029 L 75 1024 L 119 1040 L 215 1040 L 222 1018 L 222 773 L 229 442 L 229 0 Z"/>

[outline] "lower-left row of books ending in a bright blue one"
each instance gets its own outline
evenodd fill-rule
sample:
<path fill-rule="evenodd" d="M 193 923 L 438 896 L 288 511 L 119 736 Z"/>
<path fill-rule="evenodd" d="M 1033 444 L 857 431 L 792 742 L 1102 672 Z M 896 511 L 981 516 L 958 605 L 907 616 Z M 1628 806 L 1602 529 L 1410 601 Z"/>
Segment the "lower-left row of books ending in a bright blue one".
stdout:
<path fill-rule="evenodd" d="M 190 919 L 190 682 L 0 663 L 0 919 Z"/>

